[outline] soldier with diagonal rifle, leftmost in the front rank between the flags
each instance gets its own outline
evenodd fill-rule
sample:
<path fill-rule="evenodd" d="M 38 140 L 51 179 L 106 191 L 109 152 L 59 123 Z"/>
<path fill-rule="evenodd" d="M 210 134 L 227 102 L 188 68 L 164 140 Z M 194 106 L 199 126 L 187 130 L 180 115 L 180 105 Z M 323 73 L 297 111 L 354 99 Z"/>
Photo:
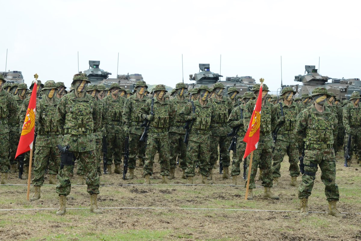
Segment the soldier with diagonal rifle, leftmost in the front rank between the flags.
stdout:
<path fill-rule="evenodd" d="M 154 155 L 159 153 L 159 163 L 162 176 L 162 183 L 170 183 L 167 176 L 169 172 L 169 126 L 173 125 L 175 116 L 175 108 L 173 102 L 165 99 L 165 93 L 167 92 L 164 84 L 157 84 L 153 89 L 155 94 L 153 114 L 151 114 L 152 100 L 145 101 L 141 109 L 141 117 L 150 122 L 148 137 L 147 137 L 147 149 L 145 151 L 144 162 L 144 184 L 150 184 L 150 176 L 153 174 L 153 161 Z"/>

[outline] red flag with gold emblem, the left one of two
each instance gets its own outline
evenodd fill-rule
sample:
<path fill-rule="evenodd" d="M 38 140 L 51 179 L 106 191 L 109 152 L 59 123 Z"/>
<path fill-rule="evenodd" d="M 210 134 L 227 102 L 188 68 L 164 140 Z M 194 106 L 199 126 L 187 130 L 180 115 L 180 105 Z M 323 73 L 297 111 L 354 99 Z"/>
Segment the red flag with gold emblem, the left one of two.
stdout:
<path fill-rule="evenodd" d="M 37 81 L 35 81 L 32 87 L 32 93 L 30 96 L 29 106 L 27 107 L 24 124 L 22 126 L 22 132 L 19 140 L 18 149 L 16 151 L 15 158 L 19 155 L 28 152 L 32 149 L 32 143 L 34 142 L 35 133 L 35 113 L 36 113 L 36 90 L 38 89 Z"/>

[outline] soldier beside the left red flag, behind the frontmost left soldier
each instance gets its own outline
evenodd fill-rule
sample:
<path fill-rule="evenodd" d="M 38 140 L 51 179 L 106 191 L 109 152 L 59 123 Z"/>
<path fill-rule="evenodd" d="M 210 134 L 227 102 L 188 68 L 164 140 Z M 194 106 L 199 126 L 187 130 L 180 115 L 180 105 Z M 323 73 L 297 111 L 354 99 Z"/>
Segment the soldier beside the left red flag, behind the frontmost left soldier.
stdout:
<path fill-rule="evenodd" d="M 56 124 L 56 108 L 60 99 L 56 97 L 58 90 L 54 81 L 48 80 L 42 88 L 43 98 L 36 102 L 35 125 L 36 152 L 34 155 L 34 179 L 32 185 L 35 193 L 30 201 L 40 198 L 40 187 L 44 183 L 45 169 L 49 172 L 49 184 L 56 184 L 56 175 L 60 166 L 60 154 L 57 148 L 61 141 L 60 131 Z"/>

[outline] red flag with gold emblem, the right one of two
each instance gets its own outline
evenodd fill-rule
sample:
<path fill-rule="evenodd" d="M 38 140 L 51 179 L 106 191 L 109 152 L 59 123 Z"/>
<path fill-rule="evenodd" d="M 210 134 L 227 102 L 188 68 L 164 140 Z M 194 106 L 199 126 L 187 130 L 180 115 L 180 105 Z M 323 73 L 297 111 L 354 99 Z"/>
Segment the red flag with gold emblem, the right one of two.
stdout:
<path fill-rule="evenodd" d="M 243 141 L 247 143 L 243 159 L 245 159 L 249 155 L 249 153 L 257 149 L 258 141 L 260 140 L 261 106 L 262 83 L 260 87 L 260 92 L 258 93 L 255 109 L 253 109 L 251 121 L 249 122 L 247 132 L 243 139 Z"/>

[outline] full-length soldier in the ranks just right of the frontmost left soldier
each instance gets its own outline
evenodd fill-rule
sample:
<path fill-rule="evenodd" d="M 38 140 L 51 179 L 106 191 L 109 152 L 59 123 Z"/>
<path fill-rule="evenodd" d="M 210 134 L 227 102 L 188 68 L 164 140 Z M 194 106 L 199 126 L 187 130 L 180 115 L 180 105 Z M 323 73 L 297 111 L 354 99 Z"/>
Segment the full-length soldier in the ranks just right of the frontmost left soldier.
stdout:
<path fill-rule="evenodd" d="M 123 170 L 120 167 L 122 163 L 122 153 L 123 153 L 123 142 L 124 142 L 124 131 L 123 131 L 123 109 L 125 98 L 124 88 L 120 87 L 119 83 L 112 83 L 110 86 L 110 96 L 107 96 L 103 99 L 104 106 L 108 109 L 108 119 L 106 121 L 105 130 L 106 130 L 106 169 L 107 174 L 112 172 L 112 163 L 114 159 L 114 173 L 122 174 Z M 122 92 L 122 96 L 120 93 Z M 129 170 L 131 176 L 130 179 L 133 179 L 134 169 Z"/>

